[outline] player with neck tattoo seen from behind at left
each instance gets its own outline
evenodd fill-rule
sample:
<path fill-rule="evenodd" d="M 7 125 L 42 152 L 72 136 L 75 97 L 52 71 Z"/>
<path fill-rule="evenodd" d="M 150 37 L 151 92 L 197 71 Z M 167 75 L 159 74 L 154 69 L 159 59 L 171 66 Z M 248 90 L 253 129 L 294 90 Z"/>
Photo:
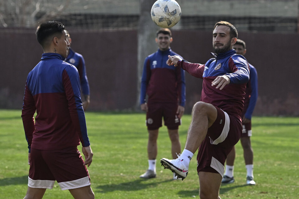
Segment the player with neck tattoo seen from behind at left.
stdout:
<path fill-rule="evenodd" d="M 22 120 L 28 142 L 28 189 L 24 199 L 40 199 L 55 180 L 74 198 L 94 199 L 86 165 L 93 161 L 80 94 L 78 70 L 64 62 L 69 41 L 64 25 L 40 24 L 41 61 L 26 80 Z M 34 113 L 37 113 L 34 119 Z M 77 146 L 82 143 L 80 155 Z"/>

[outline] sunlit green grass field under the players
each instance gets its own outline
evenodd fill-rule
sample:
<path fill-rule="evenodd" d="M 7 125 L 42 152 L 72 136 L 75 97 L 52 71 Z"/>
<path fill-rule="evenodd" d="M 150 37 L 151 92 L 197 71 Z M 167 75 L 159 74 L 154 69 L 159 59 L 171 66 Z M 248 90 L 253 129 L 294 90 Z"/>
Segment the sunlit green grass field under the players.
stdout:
<path fill-rule="evenodd" d="M 166 127 L 158 138 L 157 178 L 140 179 L 147 163 L 147 130 L 144 113 L 114 114 L 86 112 L 93 163 L 88 168 L 96 198 L 199 198 L 196 160 L 192 159 L 188 177 L 172 180 L 172 173 L 159 164 L 170 158 Z M 183 116 L 180 127 L 182 148 L 191 116 Z M 299 198 L 299 118 L 254 117 L 252 119 L 255 186 L 246 186 L 243 150 L 236 145 L 235 183 L 222 185 L 221 198 Z M 23 198 L 27 190 L 27 143 L 20 110 L 0 110 L 0 198 Z M 79 148 L 81 149 L 81 147 Z M 195 154 L 196 156 L 197 154 Z M 46 199 L 73 198 L 58 184 L 47 190 Z"/>

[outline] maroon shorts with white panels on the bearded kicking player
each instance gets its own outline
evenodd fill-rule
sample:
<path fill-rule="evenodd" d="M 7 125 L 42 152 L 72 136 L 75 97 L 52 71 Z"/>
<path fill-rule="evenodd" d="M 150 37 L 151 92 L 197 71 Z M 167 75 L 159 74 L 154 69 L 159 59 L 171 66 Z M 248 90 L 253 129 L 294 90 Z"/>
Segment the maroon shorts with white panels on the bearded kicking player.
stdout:
<path fill-rule="evenodd" d="M 197 173 L 200 171 L 224 174 L 224 163 L 233 146 L 240 140 L 242 123 L 217 108 L 216 121 L 198 148 Z"/>

